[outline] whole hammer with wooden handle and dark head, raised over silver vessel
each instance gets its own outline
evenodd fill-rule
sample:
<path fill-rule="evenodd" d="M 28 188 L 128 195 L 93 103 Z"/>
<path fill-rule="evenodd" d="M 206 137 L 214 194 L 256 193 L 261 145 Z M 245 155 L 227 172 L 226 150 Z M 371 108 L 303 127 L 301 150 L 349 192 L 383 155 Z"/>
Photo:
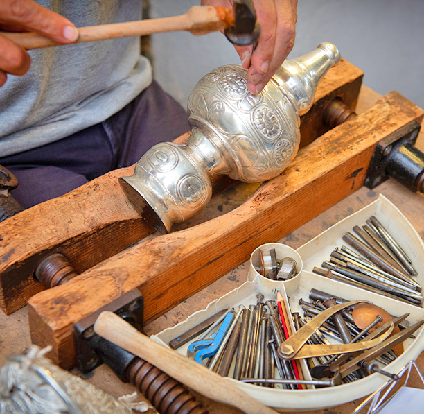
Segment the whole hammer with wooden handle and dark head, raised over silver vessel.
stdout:
<path fill-rule="evenodd" d="M 256 12 L 251 0 L 234 0 L 233 10 L 214 6 L 192 6 L 186 14 L 179 16 L 80 27 L 78 39 L 74 43 L 171 31 L 189 31 L 193 35 L 224 31 L 230 42 L 245 46 L 258 40 L 260 24 L 256 21 Z M 33 32 L 0 32 L 0 35 L 8 37 L 26 50 L 63 46 Z"/>

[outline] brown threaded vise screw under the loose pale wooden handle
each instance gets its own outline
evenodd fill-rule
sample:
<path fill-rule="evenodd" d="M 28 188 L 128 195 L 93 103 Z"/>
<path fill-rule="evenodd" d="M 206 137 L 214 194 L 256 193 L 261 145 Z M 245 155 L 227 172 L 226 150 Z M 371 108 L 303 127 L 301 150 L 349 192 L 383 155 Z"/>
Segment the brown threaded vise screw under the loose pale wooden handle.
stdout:
<path fill-rule="evenodd" d="M 143 359 L 135 359 L 127 368 L 127 379 L 160 414 L 209 413 L 182 383 Z"/>

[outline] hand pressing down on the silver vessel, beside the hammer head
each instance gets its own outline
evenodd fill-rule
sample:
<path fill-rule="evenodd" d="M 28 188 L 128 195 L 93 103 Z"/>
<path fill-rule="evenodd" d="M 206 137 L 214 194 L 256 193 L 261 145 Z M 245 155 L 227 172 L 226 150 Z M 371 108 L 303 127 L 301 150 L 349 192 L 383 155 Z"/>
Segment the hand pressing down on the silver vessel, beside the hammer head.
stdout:
<path fill-rule="evenodd" d="M 296 33 L 297 0 L 253 0 L 260 23 L 258 44 L 234 46 L 247 71 L 247 88 L 258 94 L 274 75 L 294 46 Z M 202 0 L 207 6 L 233 7 L 232 0 Z"/>

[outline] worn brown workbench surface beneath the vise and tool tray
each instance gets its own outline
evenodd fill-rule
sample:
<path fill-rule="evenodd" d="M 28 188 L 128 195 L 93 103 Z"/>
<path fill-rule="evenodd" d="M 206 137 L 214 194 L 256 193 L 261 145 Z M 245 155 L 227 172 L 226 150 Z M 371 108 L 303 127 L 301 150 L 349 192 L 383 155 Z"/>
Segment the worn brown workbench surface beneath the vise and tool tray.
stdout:
<path fill-rule="evenodd" d="M 358 103 L 357 112 L 361 112 L 366 109 L 366 107 L 373 105 L 378 97 L 378 94 L 375 94 L 370 89 L 364 87 L 360 94 L 360 102 Z M 421 132 L 418 137 L 417 146 L 419 149 L 424 151 L 423 132 Z M 229 209 L 236 207 L 236 205 L 242 202 L 242 199 L 251 193 L 253 187 L 254 185 L 252 184 L 242 184 L 237 189 L 231 188 L 225 191 L 222 195 L 213 199 L 208 208 L 200 216 L 193 218 L 191 223 L 184 223 L 184 225 L 180 225 L 180 227 L 175 226 L 175 230 L 186 225 L 193 225 L 193 222 L 202 221 L 229 211 Z M 290 245 L 295 249 L 299 248 L 301 245 L 317 236 L 317 234 L 342 220 L 342 218 L 353 214 L 373 200 L 376 200 L 379 193 L 382 193 L 389 198 L 389 200 L 391 200 L 391 202 L 393 202 L 394 205 L 396 205 L 396 207 L 405 214 L 407 219 L 415 227 L 418 234 L 420 234 L 421 238 L 424 239 L 423 194 L 410 193 L 407 189 L 400 186 L 400 184 L 394 182 L 394 180 L 388 180 L 372 191 L 366 187 L 362 187 L 342 202 L 339 202 L 334 207 L 317 216 L 317 218 L 306 223 L 306 225 L 299 227 L 299 229 L 288 234 L 288 236 L 285 236 L 280 242 Z M 145 327 L 146 333 L 155 334 L 166 327 L 173 326 L 177 322 L 186 319 L 186 317 L 191 315 L 191 313 L 203 309 L 206 307 L 206 304 L 212 300 L 215 300 L 216 298 L 224 295 L 224 293 L 240 286 L 240 284 L 245 282 L 247 279 L 248 268 L 249 266 L 246 262 L 232 270 L 227 275 L 224 275 L 224 277 L 219 279 L 217 282 L 211 284 L 207 288 L 204 288 L 204 290 L 200 293 L 193 295 L 178 307 L 175 307 L 166 313 L 166 315 L 154 320 L 154 322 Z M 21 354 L 28 348 L 29 345 L 30 336 L 26 307 L 10 316 L 0 313 L 0 364 L 2 363 L 3 357 L 7 354 Z M 424 372 L 423 354 L 421 354 L 418 358 L 417 363 L 421 372 Z M 72 372 L 78 374 L 76 370 L 73 370 Z M 82 377 L 93 383 L 95 386 L 98 386 L 98 388 L 102 388 L 116 397 L 126 393 L 132 393 L 134 391 L 132 386 L 121 383 L 113 372 L 104 365 L 97 368 L 91 374 Z M 412 375 L 412 379 L 409 381 L 409 385 L 414 384 L 415 386 L 419 386 L 420 384 L 420 381 L 415 374 Z M 197 397 L 204 402 L 204 405 L 209 409 L 209 413 L 211 414 L 240 413 L 240 411 L 235 408 L 216 404 L 215 402 L 212 402 L 200 395 L 197 395 Z M 357 404 L 358 402 L 351 402 L 344 404 L 343 406 L 327 409 L 325 410 L 325 413 L 348 414 L 353 411 Z M 149 411 L 149 413 L 154 412 L 154 410 Z M 324 411 L 315 411 L 314 413 L 324 414 Z"/>

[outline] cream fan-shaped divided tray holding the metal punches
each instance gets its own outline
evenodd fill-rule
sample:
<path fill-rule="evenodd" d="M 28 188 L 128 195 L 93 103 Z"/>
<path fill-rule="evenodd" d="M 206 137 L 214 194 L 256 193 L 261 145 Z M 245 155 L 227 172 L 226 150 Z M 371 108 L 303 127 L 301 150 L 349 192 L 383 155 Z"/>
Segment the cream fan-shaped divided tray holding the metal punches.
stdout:
<path fill-rule="evenodd" d="M 193 313 L 184 322 L 175 325 L 175 327 L 165 329 L 151 338 L 159 343 L 168 345 L 170 340 L 177 338 L 177 336 L 195 327 L 221 309 L 234 307 L 237 310 L 239 304 L 244 304 L 247 307 L 249 304 L 256 303 L 256 293 L 263 293 L 267 299 L 276 299 L 276 292 L 279 291 L 283 296 L 283 300 L 287 301 L 286 305 L 287 303 L 290 305 L 290 311 L 292 313 L 299 312 L 302 315 L 303 311 L 299 305 L 299 299 L 302 297 L 304 300 L 308 300 L 311 288 L 326 291 L 346 300 L 369 300 L 394 316 L 410 313 L 407 320 L 411 325 L 423 320 L 424 309 L 422 306 L 418 307 L 400 302 L 312 273 L 314 266 L 320 266 L 322 261 L 330 258 L 330 253 L 335 247 L 345 244 L 342 241 L 343 234 L 350 232 L 355 225 L 364 224 L 370 216 L 376 216 L 388 232 L 396 237 L 396 241 L 403 247 L 409 258 L 412 259 L 412 266 L 418 272 L 414 279 L 423 285 L 424 243 L 409 221 L 407 221 L 407 218 L 387 198 L 380 195 L 375 202 L 333 225 L 297 250 L 279 243 L 268 243 L 260 246 L 260 248 L 276 248 L 277 257 L 292 257 L 297 261 L 298 270 L 300 269 L 300 271 L 292 279 L 285 282 L 277 282 L 260 276 L 254 268 L 254 265 L 258 265 L 259 248 L 257 248 L 251 255 L 247 282 L 227 293 L 227 295 L 220 297 L 220 299 L 211 302 L 206 309 Z M 292 322 L 291 318 L 290 322 Z M 293 326 L 292 329 L 294 330 Z M 405 340 L 405 351 L 389 365 L 386 365 L 385 370 L 392 373 L 398 372 L 409 361 L 418 357 L 424 349 L 423 329 L 416 331 L 415 336 L 415 339 L 409 338 Z M 329 340 L 331 341 L 330 338 Z M 186 354 L 188 345 L 178 348 L 177 352 Z M 301 363 L 305 364 L 305 361 Z M 230 376 L 232 369 L 230 370 Z M 303 372 L 308 372 L 308 370 L 303 370 Z M 308 378 L 306 377 L 306 379 Z M 278 411 L 309 411 L 337 406 L 369 395 L 387 382 L 387 377 L 375 373 L 363 379 L 344 383 L 336 387 L 314 389 L 313 386 L 309 386 L 306 390 L 266 388 L 233 379 L 232 381 L 235 381 L 242 390 L 252 397 L 267 406 L 272 406 Z"/>

